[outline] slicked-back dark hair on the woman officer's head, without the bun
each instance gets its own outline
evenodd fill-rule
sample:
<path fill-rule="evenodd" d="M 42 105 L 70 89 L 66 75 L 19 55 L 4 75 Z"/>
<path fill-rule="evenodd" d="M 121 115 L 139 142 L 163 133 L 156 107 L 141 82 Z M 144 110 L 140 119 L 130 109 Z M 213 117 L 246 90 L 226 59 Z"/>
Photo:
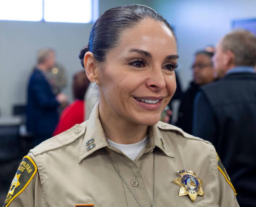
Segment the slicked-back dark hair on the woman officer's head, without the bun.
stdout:
<path fill-rule="evenodd" d="M 105 61 L 106 53 L 118 44 L 124 29 L 132 28 L 146 18 L 164 23 L 173 32 L 166 19 L 144 5 L 132 4 L 105 11 L 94 23 L 89 37 L 88 48 L 96 61 Z"/>

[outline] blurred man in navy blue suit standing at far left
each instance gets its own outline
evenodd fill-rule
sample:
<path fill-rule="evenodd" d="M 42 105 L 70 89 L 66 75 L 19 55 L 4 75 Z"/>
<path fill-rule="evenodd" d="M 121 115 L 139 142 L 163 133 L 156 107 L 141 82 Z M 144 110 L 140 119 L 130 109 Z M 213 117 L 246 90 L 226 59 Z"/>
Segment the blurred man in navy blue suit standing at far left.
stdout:
<path fill-rule="evenodd" d="M 55 52 L 52 49 L 39 50 L 37 65 L 28 86 L 27 131 L 34 136 L 38 145 L 52 136 L 58 122 L 58 106 L 67 102 L 64 94 L 55 96 L 46 75 L 55 65 Z"/>

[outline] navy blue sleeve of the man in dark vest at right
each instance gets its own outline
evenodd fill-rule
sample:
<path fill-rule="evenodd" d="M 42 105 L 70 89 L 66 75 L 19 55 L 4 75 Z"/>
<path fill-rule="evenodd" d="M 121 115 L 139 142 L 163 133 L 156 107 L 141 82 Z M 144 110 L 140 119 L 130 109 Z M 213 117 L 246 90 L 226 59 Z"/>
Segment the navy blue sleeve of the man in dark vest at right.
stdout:
<path fill-rule="evenodd" d="M 210 141 L 216 147 L 217 126 L 207 97 L 198 92 L 194 100 L 192 134 Z"/>

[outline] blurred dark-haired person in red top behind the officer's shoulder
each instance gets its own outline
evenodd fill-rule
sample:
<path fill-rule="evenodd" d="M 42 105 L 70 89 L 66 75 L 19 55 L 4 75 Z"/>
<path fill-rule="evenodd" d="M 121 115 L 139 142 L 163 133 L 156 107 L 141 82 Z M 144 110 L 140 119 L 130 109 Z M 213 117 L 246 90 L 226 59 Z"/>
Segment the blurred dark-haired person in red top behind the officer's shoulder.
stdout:
<path fill-rule="evenodd" d="M 61 113 L 59 122 L 55 128 L 53 136 L 62 133 L 75 124 L 81 124 L 84 121 L 85 103 L 83 101 L 84 94 L 89 86 L 89 80 L 85 71 L 80 71 L 73 78 L 73 95 L 74 102 L 67 106 Z"/>

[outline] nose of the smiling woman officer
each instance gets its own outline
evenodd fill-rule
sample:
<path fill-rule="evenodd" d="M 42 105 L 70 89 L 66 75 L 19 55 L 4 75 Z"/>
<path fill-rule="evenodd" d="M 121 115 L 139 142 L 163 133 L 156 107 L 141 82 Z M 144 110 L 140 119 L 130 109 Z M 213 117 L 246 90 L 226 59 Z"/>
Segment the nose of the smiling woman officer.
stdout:
<path fill-rule="evenodd" d="M 159 92 L 166 87 L 164 74 L 162 69 L 152 69 L 149 73 L 150 77 L 147 81 L 147 87 L 154 92 Z"/>

